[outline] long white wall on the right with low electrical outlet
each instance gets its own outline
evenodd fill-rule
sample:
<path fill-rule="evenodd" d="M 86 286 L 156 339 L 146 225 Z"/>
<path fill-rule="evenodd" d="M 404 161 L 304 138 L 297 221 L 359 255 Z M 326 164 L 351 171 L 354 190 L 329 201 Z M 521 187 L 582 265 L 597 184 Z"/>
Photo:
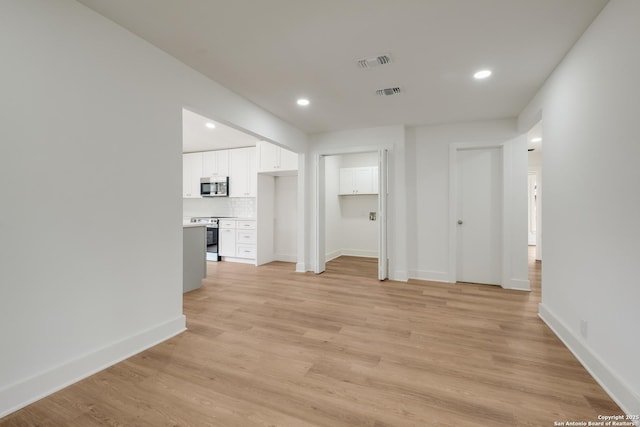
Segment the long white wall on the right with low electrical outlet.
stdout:
<path fill-rule="evenodd" d="M 540 315 L 640 413 L 640 2 L 608 3 L 519 118 L 544 123 Z M 587 333 L 580 332 L 581 321 Z"/>

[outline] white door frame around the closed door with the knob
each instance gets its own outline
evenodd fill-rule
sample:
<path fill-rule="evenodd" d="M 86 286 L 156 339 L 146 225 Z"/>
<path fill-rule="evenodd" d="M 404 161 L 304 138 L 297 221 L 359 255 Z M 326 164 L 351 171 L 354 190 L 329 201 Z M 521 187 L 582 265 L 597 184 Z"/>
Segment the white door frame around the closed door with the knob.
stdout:
<path fill-rule="evenodd" d="M 469 149 L 498 148 L 502 158 L 502 245 L 501 245 L 501 283 L 503 288 L 509 283 L 509 266 L 511 265 L 511 251 L 509 250 L 508 215 L 506 206 L 509 194 L 509 179 L 511 164 L 506 160 L 510 157 L 511 147 L 505 143 L 454 143 L 449 146 L 449 282 L 457 281 L 458 263 L 458 152 Z"/>

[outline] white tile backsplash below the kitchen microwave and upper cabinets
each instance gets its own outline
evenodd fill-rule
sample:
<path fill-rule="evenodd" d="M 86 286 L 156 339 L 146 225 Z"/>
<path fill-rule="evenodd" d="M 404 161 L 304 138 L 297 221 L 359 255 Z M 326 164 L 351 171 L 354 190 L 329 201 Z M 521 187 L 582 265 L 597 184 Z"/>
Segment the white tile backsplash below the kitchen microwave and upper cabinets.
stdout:
<path fill-rule="evenodd" d="M 185 219 L 194 216 L 255 218 L 255 197 L 203 197 L 182 199 Z"/>

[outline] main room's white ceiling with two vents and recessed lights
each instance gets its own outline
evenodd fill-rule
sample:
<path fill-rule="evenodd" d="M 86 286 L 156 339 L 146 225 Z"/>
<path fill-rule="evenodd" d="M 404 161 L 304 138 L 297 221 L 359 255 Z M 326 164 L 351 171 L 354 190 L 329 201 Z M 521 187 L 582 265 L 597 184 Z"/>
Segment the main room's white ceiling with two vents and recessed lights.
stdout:
<path fill-rule="evenodd" d="M 514 117 L 607 2 L 79 1 L 310 133 Z"/>

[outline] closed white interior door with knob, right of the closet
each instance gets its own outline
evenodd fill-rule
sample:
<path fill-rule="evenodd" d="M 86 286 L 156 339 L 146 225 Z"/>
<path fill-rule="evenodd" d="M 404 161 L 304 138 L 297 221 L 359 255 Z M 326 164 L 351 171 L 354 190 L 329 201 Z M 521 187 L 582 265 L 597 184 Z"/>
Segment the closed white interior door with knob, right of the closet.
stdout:
<path fill-rule="evenodd" d="M 456 280 L 500 284 L 502 149 L 459 150 L 456 163 Z"/>

